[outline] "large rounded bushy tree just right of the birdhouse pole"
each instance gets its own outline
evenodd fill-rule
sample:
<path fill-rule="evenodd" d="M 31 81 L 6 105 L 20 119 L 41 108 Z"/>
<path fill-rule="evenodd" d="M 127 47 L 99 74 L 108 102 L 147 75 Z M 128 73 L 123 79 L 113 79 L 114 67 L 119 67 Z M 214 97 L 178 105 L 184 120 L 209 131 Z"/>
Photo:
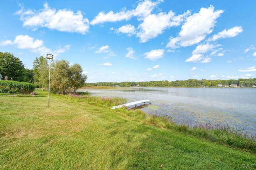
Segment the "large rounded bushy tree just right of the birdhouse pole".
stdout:
<path fill-rule="evenodd" d="M 65 60 L 55 61 L 51 69 L 51 88 L 54 93 L 66 94 L 84 86 L 87 76 L 82 74 L 83 69 L 79 64 L 69 66 Z"/>

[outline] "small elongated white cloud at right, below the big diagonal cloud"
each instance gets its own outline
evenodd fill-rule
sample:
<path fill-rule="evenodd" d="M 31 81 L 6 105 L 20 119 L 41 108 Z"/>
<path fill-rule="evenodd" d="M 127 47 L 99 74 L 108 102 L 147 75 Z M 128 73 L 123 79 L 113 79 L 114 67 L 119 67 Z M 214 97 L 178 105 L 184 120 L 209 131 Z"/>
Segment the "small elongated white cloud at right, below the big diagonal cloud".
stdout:
<path fill-rule="evenodd" d="M 239 33 L 241 33 L 243 31 L 242 27 L 233 27 L 233 28 L 230 28 L 228 30 L 224 29 L 223 31 L 221 32 L 218 32 L 218 34 L 216 35 L 213 35 L 212 36 L 212 41 L 216 41 L 217 39 L 220 39 L 220 38 L 227 38 L 227 37 L 235 37 L 236 35 L 238 35 Z"/>

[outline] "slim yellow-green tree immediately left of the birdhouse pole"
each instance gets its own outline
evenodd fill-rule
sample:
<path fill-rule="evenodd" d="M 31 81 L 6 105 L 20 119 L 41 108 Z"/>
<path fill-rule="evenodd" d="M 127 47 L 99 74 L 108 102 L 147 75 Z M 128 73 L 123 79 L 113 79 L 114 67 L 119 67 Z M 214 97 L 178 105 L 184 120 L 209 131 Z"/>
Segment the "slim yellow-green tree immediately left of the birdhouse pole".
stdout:
<path fill-rule="evenodd" d="M 47 59 L 43 56 L 33 62 L 34 84 L 38 87 L 47 88 L 49 81 L 49 65 Z"/>

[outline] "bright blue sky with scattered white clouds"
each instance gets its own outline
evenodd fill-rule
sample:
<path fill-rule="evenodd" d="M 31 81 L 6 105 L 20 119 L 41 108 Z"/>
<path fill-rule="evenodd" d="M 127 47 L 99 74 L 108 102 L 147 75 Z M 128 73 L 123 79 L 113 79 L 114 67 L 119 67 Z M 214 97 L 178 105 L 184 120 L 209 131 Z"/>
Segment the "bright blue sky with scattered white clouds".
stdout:
<path fill-rule="evenodd" d="M 256 0 L 2 0 L 0 51 L 86 82 L 256 77 Z"/>

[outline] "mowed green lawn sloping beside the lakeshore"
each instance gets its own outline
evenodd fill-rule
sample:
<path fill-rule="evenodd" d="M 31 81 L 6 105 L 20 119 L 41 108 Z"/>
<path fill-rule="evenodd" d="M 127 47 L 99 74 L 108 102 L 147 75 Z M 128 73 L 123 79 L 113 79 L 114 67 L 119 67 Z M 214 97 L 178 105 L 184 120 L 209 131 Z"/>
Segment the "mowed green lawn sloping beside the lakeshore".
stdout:
<path fill-rule="evenodd" d="M 39 93 L 0 96 L 0 169 L 256 168 L 256 154 Z"/>

